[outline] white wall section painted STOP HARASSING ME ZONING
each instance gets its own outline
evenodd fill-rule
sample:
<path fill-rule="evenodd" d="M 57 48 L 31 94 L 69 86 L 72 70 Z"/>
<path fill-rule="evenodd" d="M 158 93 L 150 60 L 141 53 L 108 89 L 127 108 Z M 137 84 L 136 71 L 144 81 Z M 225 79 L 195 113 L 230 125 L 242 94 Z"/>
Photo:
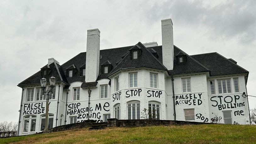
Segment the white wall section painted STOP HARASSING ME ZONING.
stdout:
<path fill-rule="evenodd" d="M 97 83 L 97 88 L 91 89 L 90 97 L 90 108 L 88 108 L 88 89 L 80 88 L 80 100 L 73 100 L 73 89 L 79 88 L 81 82 L 74 82 L 69 87 L 68 95 L 68 106 L 67 106 L 67 117 L 66 124 L 70 124 L 70 116 L 77 116 L 77 121 L 81 122 L 88 119 L 88 109 L 89 119 L 97 120 L 97 122 L 103 121 L 103 114 L 110 114 L 110 86 L 108 85 L 108 79 L 99 80 Z M 100 98 L 100 85 L 108 85 L 108 98 Z M 78 106 L 78 107 L 76 107 Z M 79 110 L 78 110 L 79 109 Z M 80 111 L 80 112 L 79 112 Z"/>

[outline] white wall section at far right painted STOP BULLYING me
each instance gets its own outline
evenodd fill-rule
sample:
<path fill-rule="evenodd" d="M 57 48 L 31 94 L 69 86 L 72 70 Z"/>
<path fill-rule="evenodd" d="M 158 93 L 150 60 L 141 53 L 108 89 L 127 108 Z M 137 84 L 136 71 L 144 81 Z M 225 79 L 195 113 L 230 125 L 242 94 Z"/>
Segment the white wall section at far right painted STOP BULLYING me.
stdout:
<path fill-rule="evenodd" d="M 233 78 L 238 78 L 239 92 L 235 92 Z M 231 81 L 231 93 L 219 93 L 217 80 Z M 210 80 L 215 82 L 215 94 L 211 94 Z M 231 111 L 232 124 L 250 124 L 247 97 L 242 97 L 246 92 L 244 76 L 216 77 L 207 80 L 209 94 L 210 120 L 214 123 L 224 123 L 223 111 Z M 217 118 L 217 119 L 216 119 Z"/>

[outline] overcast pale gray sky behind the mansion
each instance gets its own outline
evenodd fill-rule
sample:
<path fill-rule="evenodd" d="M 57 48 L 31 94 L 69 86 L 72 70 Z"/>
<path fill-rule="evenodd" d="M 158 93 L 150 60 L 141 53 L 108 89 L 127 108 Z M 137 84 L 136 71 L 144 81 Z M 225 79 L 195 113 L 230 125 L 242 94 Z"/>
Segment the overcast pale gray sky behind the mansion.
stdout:
<path fill-rule="evenodd" d="M 174 44 L 189 55 L 218 52 L 249 73 L 256 96 L 256 1 L 0 0 L 0 122 L 18 121 L 19 82 L 55 58 L 86 51 L 86 30 L 101 31 L 100 49 L 161 42 L 161 19 L 173 21 Z M 249 97 L 256 106 L 256 97 Z"/>

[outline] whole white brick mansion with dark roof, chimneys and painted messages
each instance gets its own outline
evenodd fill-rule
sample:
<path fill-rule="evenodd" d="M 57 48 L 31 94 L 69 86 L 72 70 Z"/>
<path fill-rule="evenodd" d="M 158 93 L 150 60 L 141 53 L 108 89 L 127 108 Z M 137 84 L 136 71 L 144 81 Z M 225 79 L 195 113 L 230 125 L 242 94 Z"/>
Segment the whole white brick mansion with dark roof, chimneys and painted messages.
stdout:
<path fill-rule="evenodd" d="M 218 53 L 188 55 L 173 45 L 173 23 L 162 23 L 156 42 L 100 50 L 100 31 L 87 30 L 86 52 L 62 65 L 54 58 L 18 84 L 22 88 L 18 135 L 45 129 L 46 97 L 40 79 L 54 76 L 49 128 L 94 119 L 189 120 L 249 125 L 249 72 Z M 91 96 L 88 97 L 88 90 Z"/>

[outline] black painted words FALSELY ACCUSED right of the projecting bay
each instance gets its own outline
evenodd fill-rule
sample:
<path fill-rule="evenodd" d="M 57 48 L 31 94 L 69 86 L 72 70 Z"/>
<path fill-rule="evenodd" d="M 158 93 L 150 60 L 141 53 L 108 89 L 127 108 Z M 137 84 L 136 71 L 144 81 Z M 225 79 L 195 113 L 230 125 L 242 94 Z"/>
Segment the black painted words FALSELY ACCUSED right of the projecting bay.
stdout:
<path fill-rule="evenodd" d="M 175 105 L 179 104 L 187 104 L 187 105 L 201 105 L 203 102 L 201 100 L 202 93 L 198 93 L 198 96 L 196 94 L 186 94 L 186 95 L 180 95 L 175 96 Z"/>

